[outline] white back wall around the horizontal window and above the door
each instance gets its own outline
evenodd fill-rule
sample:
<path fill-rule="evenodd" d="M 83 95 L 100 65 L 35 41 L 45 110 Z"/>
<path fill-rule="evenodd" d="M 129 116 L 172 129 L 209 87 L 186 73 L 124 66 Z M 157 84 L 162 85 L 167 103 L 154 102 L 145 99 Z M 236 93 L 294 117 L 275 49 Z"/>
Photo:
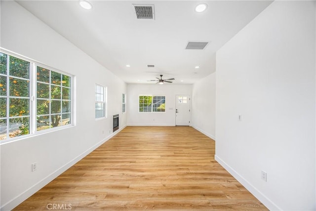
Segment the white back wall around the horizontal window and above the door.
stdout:
<path fill-rule="evenodd" d="M 166 97 L 166 112 L 139 113 L 139 95 L 162 95 Z M 192 94 L 191 84 L 127 84 L 128 126 L 175 126 L 175 95 Z"/>

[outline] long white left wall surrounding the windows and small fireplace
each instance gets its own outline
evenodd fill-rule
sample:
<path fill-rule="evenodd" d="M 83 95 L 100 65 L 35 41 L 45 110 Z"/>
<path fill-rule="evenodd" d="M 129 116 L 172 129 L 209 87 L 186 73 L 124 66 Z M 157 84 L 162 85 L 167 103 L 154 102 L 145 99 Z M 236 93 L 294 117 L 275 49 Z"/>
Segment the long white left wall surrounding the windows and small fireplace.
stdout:
<path fill-rule="evenodd" d="M 14 1 L 1 1 L 1 47 L 75 75 L 77 125 L 2 144 L 1 210 L 11 210 L 106 141 L 126 84 Z M 95 84 L 108 87 L 108 118 L 95 121 Z M 109 132 L 110 130 L 110 132 Z M 103 133 L 104 131 L 104 133 Z M 37 162 L 37 170 L 31 164 Z"/>

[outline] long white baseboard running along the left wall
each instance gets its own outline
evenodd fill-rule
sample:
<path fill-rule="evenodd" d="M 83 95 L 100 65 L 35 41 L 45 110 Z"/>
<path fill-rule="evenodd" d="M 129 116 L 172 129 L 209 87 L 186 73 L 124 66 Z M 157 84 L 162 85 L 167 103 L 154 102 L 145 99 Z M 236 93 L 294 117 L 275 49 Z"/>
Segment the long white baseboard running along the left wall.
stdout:
<path fill-rule="evenodd" d="M 64 171 L 66 171 L 67 169 L 69 169 L 70 167 L 74 166 L 77 162 L 79 162 L 82 158 L 84 158 L 85 156 L 87 156 L 88 154 L 90 154 L 93 150 L 95 150 L 96 148 L 98 148 L 99 146 L 101 146 L 102 144 L 104 144 L 106 141 L 108 141 L 110 138 L 112 138 L 113 136 L 115 136 L 119 131 L 121 131 L 122 129 L 124 129 L 126 127 L 123 126 L 121 128 L 119 128 L 117 131 L 113 132 L 112 134 L 110 134 L 109 136 L 107 136 L 105 139 L 99 141 L 97 144 L 95 144 L 94 146 L 90 147 L 89 149 L 87 149 L 86 151 L 84 151 L 82 154 L 80 154 L 79 156 L 77 156 L 76 158 L 74 158 L 73 160 L 71 160 L 70 162 L 68 162 L 67 164 L 65 164 L 64 166 L 62 166 L 61 168 L 55 170 L 53 173 L 51 173 L 50 175 L 46 176 L 45 178 L 43 178 L 42 180 L 40 180 L 38 183 L 36 183 L 35 185 L 33 185 L 32 187 L 30 187 L 29 189 L 27 189 L 26 191 L 24 191 L 23 193 L 21 193 L 20 195 L 18 195 L 17 197 L 15 197 L 14 199 L 10 200 L 9 202 L 7 202 L 6 204 L 4 204 L 1 208 L 0 211 L 10 211 L 13 210 L 16 206 L 18 206 L 19 204 L 21 204 L 24 200 L 28 199 L 30 196 L 32 196 L 34 193 L 36 193 L 37 191 L 39 191 L 42 187 L 44 187 L 45 185 L 47 185 L 49 182 L 51 182 L 53 179 L 55 179 L 57 176 L 59 176 L 60 174 L 62 174 Z"/>

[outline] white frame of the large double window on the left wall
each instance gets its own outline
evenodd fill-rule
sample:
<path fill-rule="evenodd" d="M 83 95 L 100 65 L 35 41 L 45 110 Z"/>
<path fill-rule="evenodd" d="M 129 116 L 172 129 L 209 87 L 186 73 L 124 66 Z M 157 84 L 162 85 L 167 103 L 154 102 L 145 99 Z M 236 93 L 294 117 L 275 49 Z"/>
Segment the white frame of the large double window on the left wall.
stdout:
<path fill-rule="evenodd" d="M 30 77 L 29 77 L 29 134 L 25 134 L 25 135 L 21 135 L 21 136 L 15 136 L 15 137 L 7 137 L 6 139 L 3 139 L 3 140 L 0 140 L 0 145 L 2 145 L 3 143 L 8 143 L 8 142 L 11 142 L 11 141 L 16 141 L 16 140 L 20 140 L 20 139 L 24 139 L 24 138 L 28 138 L 28 137 L 32 137 L 34 135 L 38 135 L 38 134 L 43 134 L 43 133 L 47 133 L 47 132 L 51 132 L 51 131 L 55 131 L 55 130 L 60 130 L 60 129 L 64 129 L 64 128 L 68 128 L 68 127 L 73 127 L 75 126 L 75 121 L 74 121 L 74 114 L 75 114 L 75 111 L 74 111 L 74 78 L 75 76 L 73 75 L 70 75 L 68 73 L 65 73 L 63 71 L 60 71 L 60 70 L 57 70 L 55 68 L 52 68 L 50 66 L 47 66 L 43 63 L 40 63 L 36 60 L 33 60 L 31 58 L 28 58 L 26 56 L 23 56 L 23 55 L 20 55 L 18 53 L 15 53 L 15 52 L 12 52 L 10 50 L 7 50 L 7 49 L 4 49 L 2 47 L 0 47 L 0 52 L 4 53 L 4 54 L 7 54 L 9 56 L 13 56 L 13 57 L 16 57 L 18 59 L 22 59 L 24 61 L 27 61 L 27 62 L 30 62 Z M 9 62 L 9 60 L 7 60 L 7 62 Z M 56 73 L 60 73 L 60 74 L 63 74 L 63 75 L 66 75 L 66 76 L 69 76 L 71 78 L 70 80 L 70 83 L 71 83 L 71 98 L 70 98 L 70 109 L 71 109 L 71 112 L 70 112 L 70 118 L 71 118 L 71 123 L 69 125 L 64 125 L 64 126 L 58 126 L 58 127 L 51 127 L 51 128 L 46 128 L 46 129 L 43 129 L 43 130 L 37 130 L 37 94 L 36 94 L 36 91 L 37 91 L 37 66 L 40 66 L 40 67 L 44 67 L 44 68 L 47 68 L 51 71 L 54 71 Z M 17 78 L 17 79 L 20 79 L 18 77 L 14 77 L 14 78 Z M 25 80 L 25 79 L 24 79 Z M 7 79 L 7 83 L 8 83 L 8 79 Z M 50 95 L 50 93 L 49 93 Z M 7 100 L 9 99 L 9 93 L 7 94 Z M 24 98 L 27 98 L 27 97 L 24 97 Z M 9 115 L 9 108 L 7 106 L 7 112 L 6 112 L 6 115 L 8 116 Z M 3 118 L 4 119 L 4 118 Z M 6 118 L 6 119 L 10 119 L 9 118 Z M 7 123 L 8 124 L 8 123 Z M 7 131 L 7 134 L 8 134 L 8 131 Z"/>

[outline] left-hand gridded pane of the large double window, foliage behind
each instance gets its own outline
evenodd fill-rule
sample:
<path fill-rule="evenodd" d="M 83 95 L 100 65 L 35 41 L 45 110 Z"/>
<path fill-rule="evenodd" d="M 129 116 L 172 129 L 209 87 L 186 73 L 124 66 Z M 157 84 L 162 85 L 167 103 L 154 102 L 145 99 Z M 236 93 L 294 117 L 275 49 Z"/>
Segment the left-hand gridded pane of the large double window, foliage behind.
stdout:
<path fill-rule="evenodd" d="M 0 53 L 0 140 L 29 134 L 30 62 Z"/>

